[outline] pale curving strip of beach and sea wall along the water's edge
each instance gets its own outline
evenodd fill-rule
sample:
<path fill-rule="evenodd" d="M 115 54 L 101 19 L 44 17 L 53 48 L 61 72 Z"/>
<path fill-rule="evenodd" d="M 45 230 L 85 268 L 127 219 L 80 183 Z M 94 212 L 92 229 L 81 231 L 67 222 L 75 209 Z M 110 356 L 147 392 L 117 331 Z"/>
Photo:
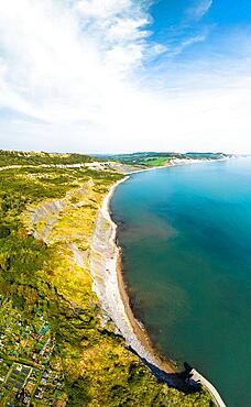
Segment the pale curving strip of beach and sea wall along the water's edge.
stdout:
<path fill-rule="evenodd" d="M 124 178 L 111 186 L 100 208 L 91 243 L 92 255 L 90 256 L 90 273 L 94 280 L 92 289 L 97 294 L 103 311 L 107 314 L 108 318 L 113 321 L 118 332 L 122 334 L 128 346 L 131 346 L 141 359 L 145 359 L 150 364 L 155 365 L 167 374 L 177 373 L 177 365 L 173 361 L 161 358 L 154 349 L 143 324 L 134 317 L 130 306 L 130 299 L 122 274 L 121 249 L 116 242 L 118 226 L 111 219 L 110 200 L 117 187 L 128 180 L 130 175 L 185 164 L 186 163 L 172 164 L 163 167 L 145 168 L 139 172 L 128 173 Z M 102 235 L 102 232 L 100 234 L 100 229 L 103 229 L 103 220 L 107 223 L 105 235 Z M 99 267 L 97 266 L 97 258 L 95 260 L 95 255 L 100 257 Z M 193 369 L 192 374 L 192 380 L 201 383 L 201 385 L 207 388 L 218 407 L 226 407 L 219 393 L 209 381 L 195 369 Z"/>

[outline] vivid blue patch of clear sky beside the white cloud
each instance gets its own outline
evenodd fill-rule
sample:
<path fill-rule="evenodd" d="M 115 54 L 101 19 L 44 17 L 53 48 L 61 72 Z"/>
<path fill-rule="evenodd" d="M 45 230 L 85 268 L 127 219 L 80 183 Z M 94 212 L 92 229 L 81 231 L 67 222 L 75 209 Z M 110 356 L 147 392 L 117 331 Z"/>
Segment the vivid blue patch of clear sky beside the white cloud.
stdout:
<path fill-rule="evenodd" d="M 251 2 L 247 0 L 160 0 L 150 12 L 151 41 L 167 47 L 159 58 L 162 63 L 203 59 L 211 67 L 222 58 L 233 64 L 247 58 L 244 42 L 251 34 Z M 187 46 L 178 52 L 184 43 Z"/>

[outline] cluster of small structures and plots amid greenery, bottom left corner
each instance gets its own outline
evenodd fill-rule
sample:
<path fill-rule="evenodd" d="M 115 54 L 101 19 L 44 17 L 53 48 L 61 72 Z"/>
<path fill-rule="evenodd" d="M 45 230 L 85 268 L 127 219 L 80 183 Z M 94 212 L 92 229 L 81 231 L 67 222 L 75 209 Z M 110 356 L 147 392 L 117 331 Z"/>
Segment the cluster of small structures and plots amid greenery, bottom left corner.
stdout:
<path fill-rule="evenodd" d="M 0 302 L 0 406 L 66 406 L 50 322 L 40 311 L 28 322 L 11 301 Z"/>

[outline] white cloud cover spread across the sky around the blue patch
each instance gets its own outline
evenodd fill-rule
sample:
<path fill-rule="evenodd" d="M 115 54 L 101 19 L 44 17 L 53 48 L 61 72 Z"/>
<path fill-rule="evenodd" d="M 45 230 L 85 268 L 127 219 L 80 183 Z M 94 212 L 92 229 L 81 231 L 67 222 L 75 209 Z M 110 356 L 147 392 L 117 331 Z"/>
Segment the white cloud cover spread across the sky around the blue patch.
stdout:
<path fill-rule="evenodd" d="M 204 67 L 185 66 L 181 79 L 167 63 L 154 88 L 142 66 L 172 50 L 152 44 L 151 16 L 140 4 L 0 1 L 2 147 L 251 152 L 248 69 L 232 75 L 222 68 L 216 85 Z M 184 40 L 178 53 L 203 41 Z"/>

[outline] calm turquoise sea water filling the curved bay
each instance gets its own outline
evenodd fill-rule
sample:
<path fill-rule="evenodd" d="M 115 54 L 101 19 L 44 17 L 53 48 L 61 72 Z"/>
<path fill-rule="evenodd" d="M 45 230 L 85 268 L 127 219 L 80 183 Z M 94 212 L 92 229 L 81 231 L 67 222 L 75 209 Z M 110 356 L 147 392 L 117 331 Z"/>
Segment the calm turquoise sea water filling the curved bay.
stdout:
<path fill-rule="evenodd" d="M 251 160 L 134 174 L 111 201 L 132 308 L 227 406 L 251 406 Z"/>

